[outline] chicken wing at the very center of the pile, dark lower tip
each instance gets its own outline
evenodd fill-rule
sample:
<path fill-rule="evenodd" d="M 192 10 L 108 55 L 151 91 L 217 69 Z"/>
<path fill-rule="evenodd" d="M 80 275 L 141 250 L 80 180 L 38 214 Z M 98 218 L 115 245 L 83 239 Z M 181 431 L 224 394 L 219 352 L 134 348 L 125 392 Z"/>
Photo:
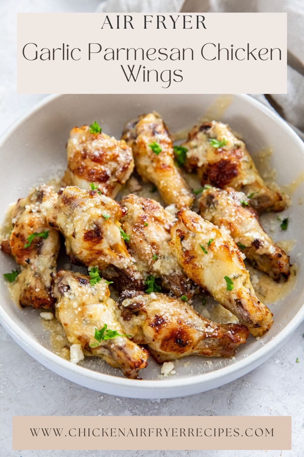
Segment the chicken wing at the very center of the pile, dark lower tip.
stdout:
<path fill-rule="evenodd" d="M 128 249 L 144 279 L 148 275 L 161 278 L 164 290 L 176 297 L 191 298 L 193 282 L 185 275 L 172 253 L 170 227 L 175 221 L 160 203 L 130 194 L 120 204 L 127 208 L 122 227 L 130 235 Z"/>

